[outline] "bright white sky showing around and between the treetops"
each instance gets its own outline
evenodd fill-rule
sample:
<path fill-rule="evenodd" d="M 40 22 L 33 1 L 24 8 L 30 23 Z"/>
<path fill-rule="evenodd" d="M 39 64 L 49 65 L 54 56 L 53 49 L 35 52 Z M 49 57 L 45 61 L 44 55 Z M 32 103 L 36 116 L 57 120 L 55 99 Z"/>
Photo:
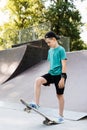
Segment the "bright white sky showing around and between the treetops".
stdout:
<path fill-rule="evenodd" d="M 49 1 L 49 0 L 48 0 Z M 0 0 L 0 25 L 9 20 L 8 12 L 2 12 L 1 9 L 6 5 L 7 0 Z M 49 3 L 46 3 L 46 5 Z M 87 23 L 87 0 L 81 2 L 81 0 L 74 0 L 76 8 L 79 9 L 82 16 L 82 22 Z M 87 28 L 82 27 L 83 32 L 81 33 L 81 38 L 87 43 Z"/>

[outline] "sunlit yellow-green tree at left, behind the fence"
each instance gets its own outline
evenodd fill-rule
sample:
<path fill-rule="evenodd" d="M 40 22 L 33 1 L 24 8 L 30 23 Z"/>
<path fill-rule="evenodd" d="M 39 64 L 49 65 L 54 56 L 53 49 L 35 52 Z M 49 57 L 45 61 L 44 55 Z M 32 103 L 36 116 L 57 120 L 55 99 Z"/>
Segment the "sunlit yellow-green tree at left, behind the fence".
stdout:
<path fill-rule="evenodd" d="M 1 27 L 0 45 L 10 48 L 18 43 L 18 31 L 45 22 L 45 6 L 41 0 L 8 0 L 4 11 L 9 21 Z"/>

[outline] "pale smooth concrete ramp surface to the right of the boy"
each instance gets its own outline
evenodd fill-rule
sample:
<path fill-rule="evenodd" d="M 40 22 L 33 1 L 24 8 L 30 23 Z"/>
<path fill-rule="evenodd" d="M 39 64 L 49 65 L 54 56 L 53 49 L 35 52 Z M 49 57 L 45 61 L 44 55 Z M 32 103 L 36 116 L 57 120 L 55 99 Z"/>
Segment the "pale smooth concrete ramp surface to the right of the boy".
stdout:
<path fill-rule="evenodd" d="M 65 108 L 87 112 L 87 51 L 67 53 Z"/>

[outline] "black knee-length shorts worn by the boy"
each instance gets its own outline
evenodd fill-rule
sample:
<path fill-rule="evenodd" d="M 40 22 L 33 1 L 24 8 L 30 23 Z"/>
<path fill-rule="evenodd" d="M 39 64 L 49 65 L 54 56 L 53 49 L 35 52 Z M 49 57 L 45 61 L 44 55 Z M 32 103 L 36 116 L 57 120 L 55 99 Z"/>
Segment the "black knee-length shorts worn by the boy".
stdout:
<path fill-rule="evenodd" d="M 59 88 L 58 86 L 58 83 L 61 79 L 61 75 L 51 75 L 49 73 L 45 74 L 45 75 L 42 75 L 41 77 L 45 78 L 47 80 L 47 83 L 43 84 L 45 86 L 49 85 L 49 84 L 54 84 L 55 85 L 55 88 L 56 88 L 56 93 L 59 94 L 59 95 L 62 95 L 64 93 L 64 88 Z"/>

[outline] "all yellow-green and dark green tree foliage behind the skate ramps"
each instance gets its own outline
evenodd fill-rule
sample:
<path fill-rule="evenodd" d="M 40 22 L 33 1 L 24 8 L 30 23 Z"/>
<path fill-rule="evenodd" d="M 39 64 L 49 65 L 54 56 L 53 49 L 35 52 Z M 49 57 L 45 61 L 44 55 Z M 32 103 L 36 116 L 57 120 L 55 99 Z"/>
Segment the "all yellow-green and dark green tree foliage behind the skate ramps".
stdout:
<path fill-rule="evenodd" d="M 36 37 L 42 36 L 45 27 L 42 23 L 51 23 L 51 30 L 59 35 L 70 37 L 70 49 L 86 49 L 85 44 L 80 40 L 81 15 L 73 5 L 73 0 L 50 0 L 51 5 L 45 8 L 47 0 L 8 0 L 5 11 L 9 12 L 9 21 L 0 27 L 0 45 L 10 48 L 12 44 L 18 43 L 19 33 L 22 32 L 24 41 L 32 37 L 31 26 Z M 39 31 L 38 25 L 41 30 Z M 47 25 L 48 26 L 48 25 Z M 46 30 L 49 30 L 49 26 Z M 31 28 L 30 30 L 26 28 Z M 21 35 L 22 36 L 22 35 Z M 20 40 L 23 41 L 23 40 Z"/>

